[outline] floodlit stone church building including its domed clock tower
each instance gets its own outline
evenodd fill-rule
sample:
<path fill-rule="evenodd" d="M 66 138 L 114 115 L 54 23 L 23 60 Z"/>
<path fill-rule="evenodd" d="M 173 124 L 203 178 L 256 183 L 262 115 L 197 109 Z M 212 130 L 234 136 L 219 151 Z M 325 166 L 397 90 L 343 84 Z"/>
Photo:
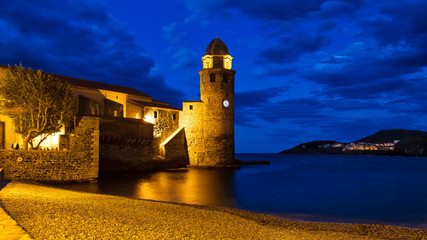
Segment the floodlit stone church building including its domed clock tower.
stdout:
<path fill-rule="evenodd" d="M 139 129 L 135 133 L 114 130 L 116 127 L 101 127 L 100 165 L 103 156 L 108 158 L 118 155 L 117 152 L 112 154 L 112 144 L 125 145 L 131 142 L 136 148 L 138 145 L 135 142 L 143 142 L 141 146 L 148 146 L 149 149 L 130 158 L 170 161 L 179 158 L 194 167 L 235 166 L 236 72 L 232 70 L 232 60 L 224 42 L 218 37 L 212 40 L 202 57 L 203 68 L 199 72 L 201 99 L 183 102 L 182 110 L 133 88 L 56 75 L 72 88 L 76 119 L 61 132 L 50 136 L 41 146 L 67 149 L 66 136 L 73 134 L 73 126 L 78 125 L 80 118 L 91 116 L 99 118 L 105 126 L 132 125 L 132 129 Z M 5 75 L 6 67 L 0 65 L 0 77 Z M 129 134 L 125 137 L 124 133 Z M 0 112 L 0 149 L 9 149 L 16 143 L 22 144 L 22 140 L 14 132 L 13 121 Z M 102 155 L 104 151 L 107 153 Z M 126 154 L 119 155 L 126 157 Z M 144 161 L 138 164 L 144 164 Z M 118 163 L 114 167 L 117 166 Z"/>

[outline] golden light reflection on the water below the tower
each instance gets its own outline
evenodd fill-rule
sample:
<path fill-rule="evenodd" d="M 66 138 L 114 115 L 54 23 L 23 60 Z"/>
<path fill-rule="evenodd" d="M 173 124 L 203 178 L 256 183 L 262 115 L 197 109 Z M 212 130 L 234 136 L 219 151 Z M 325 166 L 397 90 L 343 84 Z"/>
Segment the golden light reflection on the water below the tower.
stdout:
<path fill-rule="evenodd" d="M 140 179 L 135 196 L 167 202 L 229 206 L 234 199 L 233 170 L 183 169 Z"/>

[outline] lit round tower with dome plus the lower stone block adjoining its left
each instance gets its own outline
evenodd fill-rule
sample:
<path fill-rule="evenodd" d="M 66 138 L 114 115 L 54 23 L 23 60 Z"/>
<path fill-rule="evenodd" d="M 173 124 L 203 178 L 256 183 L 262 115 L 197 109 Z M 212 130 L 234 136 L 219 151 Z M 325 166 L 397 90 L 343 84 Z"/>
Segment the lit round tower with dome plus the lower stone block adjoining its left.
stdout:
<path fill-rule="evenodd" d="M 234 75 L 232 57 L 218 38 L 207 47 L 200 74 L 201 101 L 184 102 L 180 126 L 185 128 L 191 166 L 233 166 Z"/>

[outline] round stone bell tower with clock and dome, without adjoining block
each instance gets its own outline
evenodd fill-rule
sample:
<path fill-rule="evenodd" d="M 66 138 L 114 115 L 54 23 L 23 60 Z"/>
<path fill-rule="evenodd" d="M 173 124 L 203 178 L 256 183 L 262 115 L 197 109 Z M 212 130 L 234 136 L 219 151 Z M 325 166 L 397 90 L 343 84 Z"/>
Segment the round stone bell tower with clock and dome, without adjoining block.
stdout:
<path fill-rule="evenodd" d="M 233 58 L 218 36 L 202 57 L 200 96 L 203 102 L 204 158 L 199 165 L 234 165 Z"/>

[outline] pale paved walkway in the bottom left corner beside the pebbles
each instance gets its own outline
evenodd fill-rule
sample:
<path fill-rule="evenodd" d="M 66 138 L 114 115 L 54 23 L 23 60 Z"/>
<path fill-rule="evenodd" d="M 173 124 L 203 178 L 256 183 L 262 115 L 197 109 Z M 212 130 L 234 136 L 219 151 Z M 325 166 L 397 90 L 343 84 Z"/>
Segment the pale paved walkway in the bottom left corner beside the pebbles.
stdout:
<path fill-rule="evenodd" d="M 0 239 L 32 239 L 2 208 L 0 208 Z"/>

